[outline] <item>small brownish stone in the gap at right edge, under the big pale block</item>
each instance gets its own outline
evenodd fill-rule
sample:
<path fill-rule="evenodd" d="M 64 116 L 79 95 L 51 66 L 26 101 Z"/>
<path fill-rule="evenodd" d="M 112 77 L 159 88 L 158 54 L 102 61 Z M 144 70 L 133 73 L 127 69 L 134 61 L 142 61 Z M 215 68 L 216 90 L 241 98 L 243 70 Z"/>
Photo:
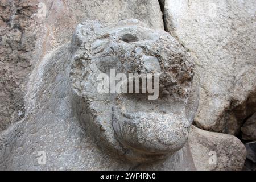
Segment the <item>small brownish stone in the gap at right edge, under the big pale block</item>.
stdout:
<path fill-rule="evenodd" d="M 243 140 L 256 140 L 256 113 L 247 119 L 241 131 Z"/>

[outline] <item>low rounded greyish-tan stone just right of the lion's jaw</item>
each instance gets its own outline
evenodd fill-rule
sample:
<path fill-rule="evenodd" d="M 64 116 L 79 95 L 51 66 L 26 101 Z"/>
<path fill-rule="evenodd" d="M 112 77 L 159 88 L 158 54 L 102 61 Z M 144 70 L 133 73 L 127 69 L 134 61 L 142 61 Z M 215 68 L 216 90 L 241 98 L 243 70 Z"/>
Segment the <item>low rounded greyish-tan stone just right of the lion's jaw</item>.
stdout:
<path fill-rule="evenodd" d="M 233 135 L 204 131 L 192 125 L 188 143 L 197 170 L 241 170 L 243 168 L 246 149 L 243 143 Z M 216 155 L 216 163 L 214 163 L 214 155 Z"/>

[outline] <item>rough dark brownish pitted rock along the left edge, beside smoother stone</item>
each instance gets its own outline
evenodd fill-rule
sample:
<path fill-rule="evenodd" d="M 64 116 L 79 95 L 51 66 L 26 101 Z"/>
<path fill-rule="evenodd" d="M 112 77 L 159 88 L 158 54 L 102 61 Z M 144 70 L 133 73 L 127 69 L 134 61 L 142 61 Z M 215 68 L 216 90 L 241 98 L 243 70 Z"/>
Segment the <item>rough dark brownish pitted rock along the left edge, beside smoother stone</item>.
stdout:
<path fill-rule="evenodd" d="M 24 77 L 31 72 L 38 6 L 28 1 L 0 1 L 0 131 L 26 112 Z"/>

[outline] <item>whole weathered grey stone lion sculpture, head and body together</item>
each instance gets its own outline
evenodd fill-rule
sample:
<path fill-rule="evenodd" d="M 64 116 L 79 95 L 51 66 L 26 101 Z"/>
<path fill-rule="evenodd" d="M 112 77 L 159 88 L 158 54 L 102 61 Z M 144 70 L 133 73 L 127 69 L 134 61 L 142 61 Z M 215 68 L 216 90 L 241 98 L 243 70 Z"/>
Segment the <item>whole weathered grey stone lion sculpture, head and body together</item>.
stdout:
<path fill-rule="evenodd" d="M 170 34 L 136 19 L 79 24 L 32 73 L 26 116 L 1 134 L 0 168 L 195 169 L 193 66 Z M 158 98 L 99 93 L 97 77 L 111 69 L 158 75 Z"/>

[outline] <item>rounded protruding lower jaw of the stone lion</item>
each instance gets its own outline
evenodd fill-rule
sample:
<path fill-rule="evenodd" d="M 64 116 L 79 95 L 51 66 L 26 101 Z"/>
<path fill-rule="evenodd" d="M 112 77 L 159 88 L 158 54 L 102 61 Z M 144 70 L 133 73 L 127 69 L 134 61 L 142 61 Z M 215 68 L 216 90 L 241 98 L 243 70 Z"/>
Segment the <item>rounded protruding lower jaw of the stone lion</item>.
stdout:
<path fill-rule="evenodd" d="M 187 142 L 189 122 L 183 116 L 149 112 L 123 113 L 112 109 L 112 125 L 118 141 L 144 154 L 170 154 Z"/>

